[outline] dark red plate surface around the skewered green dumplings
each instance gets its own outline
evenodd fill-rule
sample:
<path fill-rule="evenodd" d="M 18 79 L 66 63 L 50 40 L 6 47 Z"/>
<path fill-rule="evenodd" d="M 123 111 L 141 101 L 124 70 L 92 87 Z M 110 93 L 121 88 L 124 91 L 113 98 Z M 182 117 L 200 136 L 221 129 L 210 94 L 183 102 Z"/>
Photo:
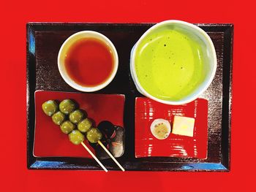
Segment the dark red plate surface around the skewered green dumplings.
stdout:
<path fill-rule="evenodd" d="M 79 108 L 85 110 L 89 118 L 95 121 L 96 126 L 102 120 L 109 120 L 116 126 L 124 127 L 124 96 L 103 95 L 89 93 L 64 93 L 56 91 L 37 91 L 36 102 L 36 128 L 34 140 L 34 155 L 38 157 L 84 157 L 91 155 L 82 145 L 73 145 L 69 142 L 67 134 L 63 134 L 59 126 L 53 123 L 50 117 L 42 112 L 42 103 L 53 100 L 74 99 Z M 88 143 L 86 141 L 85 143 Z M 92 150 L 89 143 L 87 146 Z"/>

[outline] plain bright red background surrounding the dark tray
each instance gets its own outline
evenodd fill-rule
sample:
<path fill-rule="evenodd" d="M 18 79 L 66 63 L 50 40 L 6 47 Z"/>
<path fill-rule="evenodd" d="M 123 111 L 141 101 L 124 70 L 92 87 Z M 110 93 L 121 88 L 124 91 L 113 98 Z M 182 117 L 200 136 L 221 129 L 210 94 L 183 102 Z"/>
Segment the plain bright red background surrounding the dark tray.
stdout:
<path fill-rule="evenodd" d="M 252 1 L 1 1 L 1 191 L 254 191 L 255 6 Z M 84 172 L 26 169 L 26 23 L 234 23 L 231 171 Z M 68 182 L 69 181 L 69 182 Z M 136 190 L 135 190 L 136 191 Z"/>

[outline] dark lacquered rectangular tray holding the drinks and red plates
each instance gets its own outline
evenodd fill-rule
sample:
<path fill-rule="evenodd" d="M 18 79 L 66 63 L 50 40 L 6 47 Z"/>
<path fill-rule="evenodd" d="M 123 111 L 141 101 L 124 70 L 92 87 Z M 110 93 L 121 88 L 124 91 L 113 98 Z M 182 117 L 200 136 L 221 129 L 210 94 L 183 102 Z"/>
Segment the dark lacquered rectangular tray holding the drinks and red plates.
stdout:
<path fill-rule="evenodd" d="M 116 46 L 118 72 L 113 82 L 96 93 L 121 93 L 126 96 L 124 126 L 125 151 L 118 161 L 130 171 L 220 171 L 230 170 L 230 115 L 233 54 L 232 24 L 195 24 L 203 28 L 217 52 L 217 73 L 210 87 L 200 97 L 208 99 L 208 157 L 135 158 L 135 88 L 129 72 L 132 46 L 154 23 L 28 23 L 27 24 L 27 166 L 29 169 L 102 170 L 88 158 L 36 158 L 34 143 L 34 91 L 72 91 L 61 78 L 57 66 L 59 48 L 67 37 L 78 31 L 92 30 L 105 34 Z M 120 170 L 111 160 L 102 163 L 109 170 Z"/>

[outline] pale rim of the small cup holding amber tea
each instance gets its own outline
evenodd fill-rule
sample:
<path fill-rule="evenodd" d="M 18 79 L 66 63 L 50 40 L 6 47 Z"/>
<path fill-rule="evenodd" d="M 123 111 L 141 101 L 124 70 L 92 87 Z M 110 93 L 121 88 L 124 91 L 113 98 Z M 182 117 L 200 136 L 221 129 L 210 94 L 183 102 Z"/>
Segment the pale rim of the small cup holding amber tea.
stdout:
<path fill-rule="evenodd" d="M 108 44 L 110 49 L 113 51 L 113 58 L 114 58 L 114 66 L 113 66 L 113 71 L 110 74 L 110 77 L 108 77 L 107 80 L 105 80 L 105 82 L 103 82 L 100 85 L 97 86 L 93 86 L 93 87 L 86 87 L 84 85 L 79 85 L 77 82 L 75 82 L 74 80 L 72 80 L 71 77 L 69 77 L 69 75 L 64 74 L 63 69 L 61 69 L 61 66 L 64 65 L 61 62 L 61 56 L 64 50 L 64 47 L 67 46 L 67 43 L 72 40 L 74 37 L 77 37 L 79 35 L 87 35 L 86 37 L 94 37 L 96 39 L 99 39 L 98 37 L 101 37 L 99 40 L 104 42 L 105 44 Z M 81 39 L 84 37 L 81 37 Z M 70 47 L 70 45 L 69 45 Z M 65 66 L 64 66 L 65 68 Z M 94 92 L 94 91 L 99 91 L 102 88 L 105 88 L 107 85 L 110 84 L 110 82 L 112 82 L 113 78 L 116 76 L 116 72 L 118 70 L 118 53 L 116 51 L 116 47 L 113 45 L 113 42 L 110 41 L 110 39 L 108 39 L 108 37 L 106 37 L 105 35 L 97 32 L 97 31 L 90 31 L 90 30 L 86 30 L 86 31 L 78 31 L 75 34 L 72 34 L 71 36 L 69 36 L 61 45 L 61 48 L 59 49 L 59 54 L 58 54 L 58 69 L 59 69 L 59 73 L 61 74 L 61 77 L 63 78 L 63 80 L 65 82 L 67 82 L 67 84 L 69 86 L 71 86 L 72 88 L 75 88 L 78 91 L 83 91 L 83 92 Z"/>

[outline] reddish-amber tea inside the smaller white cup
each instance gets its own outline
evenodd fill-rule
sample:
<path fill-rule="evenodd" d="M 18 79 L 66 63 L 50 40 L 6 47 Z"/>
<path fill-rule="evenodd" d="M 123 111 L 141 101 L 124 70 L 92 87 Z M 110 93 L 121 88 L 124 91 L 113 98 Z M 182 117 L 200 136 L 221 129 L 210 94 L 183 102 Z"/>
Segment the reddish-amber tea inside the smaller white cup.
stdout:
<path fill-rule="evenodd" d="M 65 58 L 67 74 L 86 87 L 101 85 L 113 72 L 113 53 L 108 45 L 95 38 L 84 38 L 69 48 Z"/>

